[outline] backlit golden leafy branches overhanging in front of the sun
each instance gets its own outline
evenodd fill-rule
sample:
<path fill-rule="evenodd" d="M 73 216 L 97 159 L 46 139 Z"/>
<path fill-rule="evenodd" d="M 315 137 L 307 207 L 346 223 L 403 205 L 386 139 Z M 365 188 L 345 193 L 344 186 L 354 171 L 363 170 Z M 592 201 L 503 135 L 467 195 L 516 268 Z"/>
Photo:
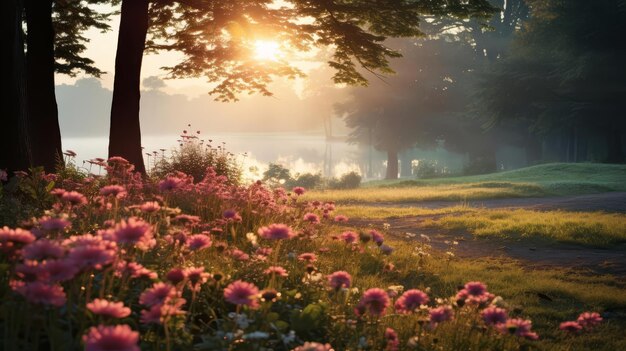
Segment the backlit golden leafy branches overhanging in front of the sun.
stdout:
<path fill-rule="evenodd" d="M 328 64 L 337 84 L 367 85 L 363 72 L 392 73 L 389 58 L 400 52 L 384 44 L 387 37 L 416 37 L 420 17 L 462 20 L 487 17 L 494 8 L 486 0 L 429 1 L 211 1 L 155 2 L 151 7 L 152 50 L 175 50 L 182 62 L 168 67 L 172 77 L 205 76 L 217 86 L 218 100 L 237 100 L 244 91 L 271 95 L 271 77 L 301 72 L 287 60 L 256 62 L 256 40 L 275 40 L 284 52 L 332 47 Z M 306 20 L 298 20 L 306 19 Z"/>

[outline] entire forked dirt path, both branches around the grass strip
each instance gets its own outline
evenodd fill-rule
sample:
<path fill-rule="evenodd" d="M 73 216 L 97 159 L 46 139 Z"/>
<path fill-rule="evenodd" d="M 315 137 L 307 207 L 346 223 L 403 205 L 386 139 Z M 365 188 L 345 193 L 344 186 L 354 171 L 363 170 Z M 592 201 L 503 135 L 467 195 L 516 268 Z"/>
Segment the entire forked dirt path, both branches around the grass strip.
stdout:
<path fill-rule="evenodd" d="M 382 205 L 382 204 L 379 204 Z M 438 208 L 452 205 L 450 202 L 421 202 L 414 204 L 386 204 L 386 206 L 419 206 Z M 626 213 L 626 193 L 605 193 L 583 196 L 558 198 L 522 198 L 472 201 L 472 206 L 487 208 L 527 208 L 537 210 L 567 211 L 606 211 Z M 532 268 L 563 267 L 580 269 L 591 274 L 608 273 L 626 277 L 626 244 L 611 249 L 589 248 L 571 244 L 538 245 L 528 241 L 512 241 L 500 238 L 476 239 L 466 231 L 445 231 L 426 228 L 422 222 L 433 219 L 433 216 L 409 216 L 389 218 L 385 220 L 351 219 L 347 224 L 352 226 L 382 227 L 390 225 L 389 232 L 398 238 L 411 239 L 406 233 L 426 234 L 434 249 L 446 251 L 446 241 L 459 242 L 455 254 L 462 258 L 507 258 L 515 259 Z"/>

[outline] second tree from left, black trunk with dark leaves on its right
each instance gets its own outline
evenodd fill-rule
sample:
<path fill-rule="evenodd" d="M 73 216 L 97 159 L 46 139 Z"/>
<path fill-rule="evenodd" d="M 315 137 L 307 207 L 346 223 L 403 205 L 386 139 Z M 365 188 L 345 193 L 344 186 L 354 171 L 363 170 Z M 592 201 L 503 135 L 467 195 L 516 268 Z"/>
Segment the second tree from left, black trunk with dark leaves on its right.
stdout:
<path fill-rule="evenodd" d="M 29 134 L 33 164 L 48 172 L 62 160 L 61 131 L 55 96 L 55 73 L 75 76 L 77 71 L 99 77 L 93 61 L 82 56 L 87 41 L 82 32 L 107 30 L 108 14 L 90 5 L 105 0 L 25 0 L 26 72 Z"/>

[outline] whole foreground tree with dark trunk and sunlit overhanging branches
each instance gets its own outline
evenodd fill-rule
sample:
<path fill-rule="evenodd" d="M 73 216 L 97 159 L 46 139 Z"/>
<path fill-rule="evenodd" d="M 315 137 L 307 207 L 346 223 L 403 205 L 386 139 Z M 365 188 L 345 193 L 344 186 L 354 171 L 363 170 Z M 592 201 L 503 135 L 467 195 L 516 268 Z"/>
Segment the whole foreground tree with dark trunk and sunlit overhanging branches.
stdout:
<path fill-rule="evenodd" d="M 286 51 L 332 46 L 328 64 L 337 72 L 334 81 L 367 85 L 360 69 L 376 75 L 391 73 L 388 59 L 400 55 L 387 48 L 384 40 L 419 36 L 420 15 L 467 18 L 485 16 L 491 10 L 486 0 L 290 0 L 281 5 L 271 0 L 161 0 L 150 4 L 148 0 L 125 0 L 109 156 L 125 157 L 144 171 L 138 77 L 145 48 L 141 39 L 149 29 L 149 49 L 175 50 L 185 56 L 169 68 L 171 77 L 203 76 L 217 84 L 211 93 L 218 100 L 233 101 L 242 92 L 270 95 L 267 85 L 273 77 L 300 74 L 283 60 L 252 60 L 256 40 L 275 40 Z"/>

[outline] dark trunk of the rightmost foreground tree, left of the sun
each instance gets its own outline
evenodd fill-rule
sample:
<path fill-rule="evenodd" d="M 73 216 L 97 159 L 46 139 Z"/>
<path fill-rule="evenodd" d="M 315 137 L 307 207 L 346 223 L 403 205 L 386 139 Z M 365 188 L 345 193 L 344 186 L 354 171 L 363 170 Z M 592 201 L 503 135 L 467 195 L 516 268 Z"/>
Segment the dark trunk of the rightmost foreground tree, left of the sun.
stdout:
<path fill-rule="evenodd" d="M 141 61 L 148 31 L 148 0 L 124 0 L 115 56 L 109 157 L 121 156 L 145 173 L 139 126 Z"/>

